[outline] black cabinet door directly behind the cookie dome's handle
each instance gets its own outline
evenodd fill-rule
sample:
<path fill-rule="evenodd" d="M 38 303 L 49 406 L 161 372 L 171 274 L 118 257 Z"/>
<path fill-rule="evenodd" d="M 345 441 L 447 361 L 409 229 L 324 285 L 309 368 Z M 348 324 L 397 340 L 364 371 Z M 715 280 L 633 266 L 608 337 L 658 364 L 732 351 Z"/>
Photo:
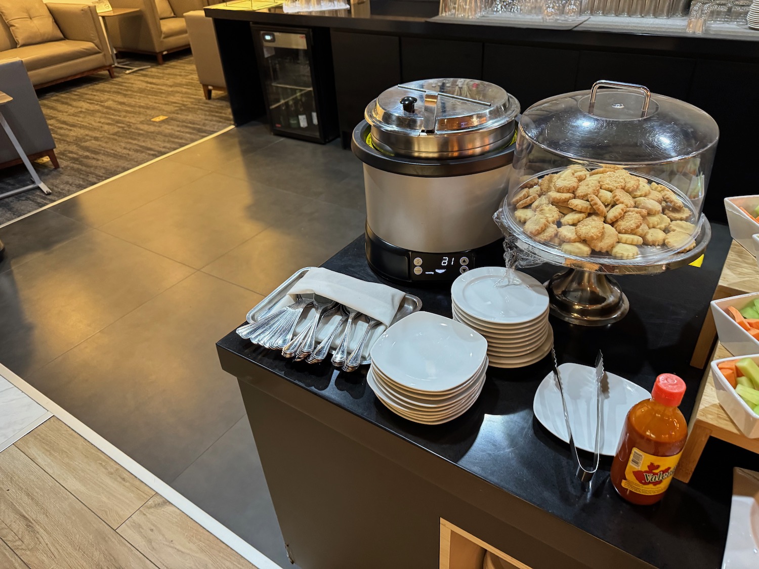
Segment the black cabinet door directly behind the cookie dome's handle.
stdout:
<path fill-rule="evenodd" d="M 577 90 L 590 89 L 599 79 L 638 83 L 653 93 L 686 99 L 695 60 L 638 53 L 580 52 Z"/>

